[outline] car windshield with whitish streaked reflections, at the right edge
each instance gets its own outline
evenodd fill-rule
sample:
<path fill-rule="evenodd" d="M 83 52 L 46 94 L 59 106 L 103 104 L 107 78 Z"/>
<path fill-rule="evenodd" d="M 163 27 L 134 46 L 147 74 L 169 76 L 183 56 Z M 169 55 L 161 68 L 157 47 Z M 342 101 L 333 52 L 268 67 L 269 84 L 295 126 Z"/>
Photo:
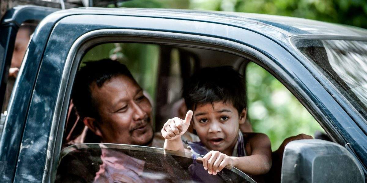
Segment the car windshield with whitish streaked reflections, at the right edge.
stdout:
<path fill-rule="evenodd" d="M 320 39 L 293 44 L 367 119 L 367 41 Z"/>

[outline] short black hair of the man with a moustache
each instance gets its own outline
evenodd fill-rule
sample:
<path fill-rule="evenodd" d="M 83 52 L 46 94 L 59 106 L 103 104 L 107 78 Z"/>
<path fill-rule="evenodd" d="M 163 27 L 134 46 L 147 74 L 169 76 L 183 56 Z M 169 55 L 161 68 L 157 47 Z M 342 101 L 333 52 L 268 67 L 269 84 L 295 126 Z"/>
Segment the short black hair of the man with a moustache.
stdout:
<path fill-rule="evenodd" d="M 103 83 L 118 75 L 128 76 L 135 81 L 124 64 L 110 59 L 87 62 L 77 72 L 72 99 L 81 119 L 87 116 L 99 119 L 98 104 L 92 98 L 91 84 L 95 82 L 101 88 Z"/>

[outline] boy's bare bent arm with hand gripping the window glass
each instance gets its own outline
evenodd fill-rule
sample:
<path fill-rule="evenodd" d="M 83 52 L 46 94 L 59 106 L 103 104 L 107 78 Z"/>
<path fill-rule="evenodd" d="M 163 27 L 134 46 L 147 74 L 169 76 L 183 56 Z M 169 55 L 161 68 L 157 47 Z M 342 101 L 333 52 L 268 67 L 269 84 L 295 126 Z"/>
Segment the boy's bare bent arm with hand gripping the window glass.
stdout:
<path fill-rule="evenodd" d="M 203 158 L 204 169 L 209 174 L 216 175 L 223 168 L 236 167 L 250 175 L 262 175 L 270 170 L 272 165 L 270 140 L 265 134 L 255 134 L 249 139 L 252 153 L 245 157 L 232 157 L 218 151 L 210 151 Z"/>

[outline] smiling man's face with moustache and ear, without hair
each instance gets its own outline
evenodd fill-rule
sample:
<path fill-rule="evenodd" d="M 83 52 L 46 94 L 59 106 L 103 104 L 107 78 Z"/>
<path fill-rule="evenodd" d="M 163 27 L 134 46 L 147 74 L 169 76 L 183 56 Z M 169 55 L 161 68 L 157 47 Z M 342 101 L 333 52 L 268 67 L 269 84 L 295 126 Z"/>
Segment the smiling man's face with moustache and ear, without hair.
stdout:
<path fill-rule="evenodd" d="M 152 105 L 131 78 L 118 75 L 99 88 L 91 86 L 100 121 L 95 124 L 104 143 L 148 145 L 153 138 Z"/>

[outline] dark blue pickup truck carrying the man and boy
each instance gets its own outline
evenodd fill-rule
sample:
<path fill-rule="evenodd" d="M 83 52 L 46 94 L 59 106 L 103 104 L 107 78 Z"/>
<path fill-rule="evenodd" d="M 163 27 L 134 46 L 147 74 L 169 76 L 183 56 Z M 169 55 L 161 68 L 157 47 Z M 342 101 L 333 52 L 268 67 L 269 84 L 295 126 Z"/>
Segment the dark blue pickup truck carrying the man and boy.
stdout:
<path fill-rule="evenodd" d="M 59 163 L 78 149 L 120 149 L 136 157 L 151 156 L 146 160 L 151 163 L 161 159 L 164 164 L 163 157 L 178 159 L 179 163 L 186 162 L 180 158 L 194 161 L 189 153 L 131 145 L 76 144 L 62 150 L 69 129 L 70 94 L 80 63 L 98 56 L 99 52 L 93 50 L 98 45 L 111 43 L 159 46 L 152 50 L 159 53 L 155 60 L 160 61 L 155 65 L 142 61 L 134 66 L 137 72 L 145 69 L 148 76 L 157 75 L 159 87 L 151 90 L 155 92 L 152 98 L 157 101 L 156 111 L 173 108 L 179 91 L 168 94 L 168 85 L 187 81 L 198 68 L 226 64 L 244 74 L 248 63 L 258 64 L 287 87 L 332 141 L 288 143 L 281 181 L 366 181 L 365 29 L 235 12 L 18 6 L 8 10 L 1 21 L 1 101 L 15 34 L 26 20 L 41 22 L 29 42 L 8 104 L 0 140 L 1 182 L 53 182 Z M 182 81 L 168 74 L 175 55 L 183 60 L 172 64 L 181 64 L 177 72 L 181 72 Z M 164 114 L 156 112 L 156 131 L 164 119 Z M 94 165 L 98 161 L 90 158 L 85 163 Z M 185 166 L 183 163 L 175 171 L 186 175 Z M 157 175 L 168 176 L 173 182 L 192 180 L 181 173 L 170 174 L 170 168 Z M 72 167 L 70 170 L 77 172 Z M 218 182 L 254 182 L 235 168 L 218 175 Z"/>

